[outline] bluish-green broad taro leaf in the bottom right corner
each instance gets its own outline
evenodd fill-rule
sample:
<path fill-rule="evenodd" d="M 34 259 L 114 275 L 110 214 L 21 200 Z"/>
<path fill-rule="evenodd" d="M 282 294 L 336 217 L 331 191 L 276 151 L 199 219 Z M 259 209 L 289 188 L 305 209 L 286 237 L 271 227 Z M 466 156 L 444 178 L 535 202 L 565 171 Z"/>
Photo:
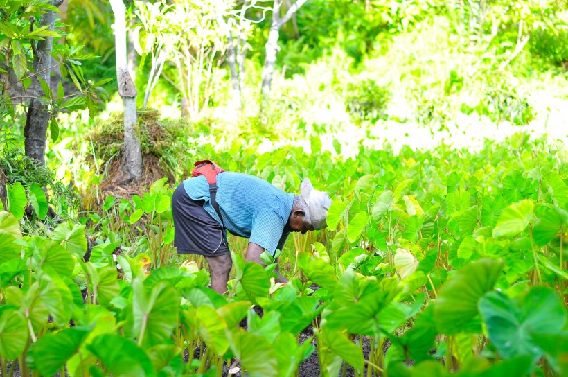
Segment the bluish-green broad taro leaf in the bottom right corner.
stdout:
<path fill-rule="evenodd" d="M 479 311 L 499 355 L 529 355 L 533 361 L 543 353 L 533 335 L 559 333 L 567 320 L 566 310 L 554 291 L 538 286 L 532 287 L 522 302 L 500 292 L 488 292 L 479 300 Z"/>

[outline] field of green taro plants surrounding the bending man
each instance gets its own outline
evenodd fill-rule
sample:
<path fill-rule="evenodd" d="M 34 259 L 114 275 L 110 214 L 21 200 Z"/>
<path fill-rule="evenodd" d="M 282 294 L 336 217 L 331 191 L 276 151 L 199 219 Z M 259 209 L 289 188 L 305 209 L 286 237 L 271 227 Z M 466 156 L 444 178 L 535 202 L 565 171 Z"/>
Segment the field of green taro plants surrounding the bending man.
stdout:
<path fill-rule="evenodd" d="M 328 229 L 290 236 L 266 268 L 231 236 L 226 295 L 177 256 L 166 179 L 35 232 L 42 188 L 8 184 L 1 376 L 568 376 L 563 146 L 311 147 L 206 156 L 333 200 Z"/>

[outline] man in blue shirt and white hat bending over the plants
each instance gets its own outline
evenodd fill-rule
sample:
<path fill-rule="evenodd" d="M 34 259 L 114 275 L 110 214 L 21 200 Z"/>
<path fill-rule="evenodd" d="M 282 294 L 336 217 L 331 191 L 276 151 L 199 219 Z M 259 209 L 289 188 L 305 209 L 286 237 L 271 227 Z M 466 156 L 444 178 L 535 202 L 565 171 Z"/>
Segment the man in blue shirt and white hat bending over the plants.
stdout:
<path fill-rule="evenodd" d="M 260 254 L 281 250 L 291 231 L 305 234 L 326 227 L 331 200 L 308 178 L 301 183 L 301 195 L 294 195 L 258 177 L 220 170 L 211 180 L 197 176 L 182 182 L 172 196 L 172 213 L 177 252 L 205 256 L 211 288 L 222 294 L 232 265 L 226 230 L 249 238 L 245 260 L 264 265 Z M 216 184 L 211 183 L 215 178 Z M 278 273 L 277 281 L 287 279 Z"/>

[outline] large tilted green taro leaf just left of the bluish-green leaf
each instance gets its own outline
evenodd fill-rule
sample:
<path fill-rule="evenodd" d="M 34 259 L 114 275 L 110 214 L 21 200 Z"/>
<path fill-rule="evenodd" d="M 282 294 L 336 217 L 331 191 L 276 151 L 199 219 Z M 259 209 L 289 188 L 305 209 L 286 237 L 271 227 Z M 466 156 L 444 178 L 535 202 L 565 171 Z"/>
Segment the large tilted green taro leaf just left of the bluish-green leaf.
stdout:
<path fill-rule="evenodd" d="M 454 272 L 438 291 L 434 304 L 438 331 L 447 335 L 463 331 L 477 315 L 477 301 L 492 290 L 501 270 L 502 263 L 480 259 Z"/>

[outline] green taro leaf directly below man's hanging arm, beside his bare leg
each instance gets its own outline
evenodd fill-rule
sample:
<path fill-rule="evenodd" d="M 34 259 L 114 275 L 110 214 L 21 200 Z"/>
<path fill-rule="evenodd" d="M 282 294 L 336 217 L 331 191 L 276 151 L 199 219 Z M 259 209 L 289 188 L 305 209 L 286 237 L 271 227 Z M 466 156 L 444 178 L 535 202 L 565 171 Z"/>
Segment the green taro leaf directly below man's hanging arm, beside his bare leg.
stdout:
<path fill-rule="evenodd" d="M 237 293 L 249 301 L 256 302 L 256 297 L 267 297 L 270 290 L 270 279 L 261 265 L 245 262 L 240 255 L 231 252 L 235 266 Z"/>

